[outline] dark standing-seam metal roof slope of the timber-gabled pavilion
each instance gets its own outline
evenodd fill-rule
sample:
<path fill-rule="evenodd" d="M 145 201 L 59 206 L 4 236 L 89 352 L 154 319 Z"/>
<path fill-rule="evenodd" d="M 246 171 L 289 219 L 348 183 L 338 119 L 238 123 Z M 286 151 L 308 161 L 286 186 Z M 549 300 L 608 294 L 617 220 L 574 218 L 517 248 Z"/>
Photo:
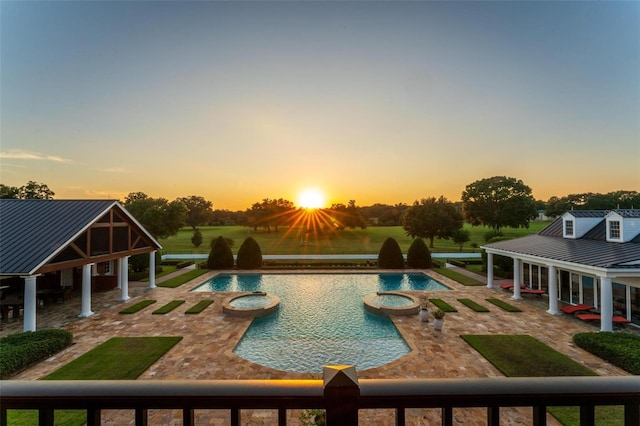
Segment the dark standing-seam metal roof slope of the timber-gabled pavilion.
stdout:
<path fill-rule="evenodd" d="M 34 269 L 107 212 L 113 200 L 0 200 L 0 274 Z"/>

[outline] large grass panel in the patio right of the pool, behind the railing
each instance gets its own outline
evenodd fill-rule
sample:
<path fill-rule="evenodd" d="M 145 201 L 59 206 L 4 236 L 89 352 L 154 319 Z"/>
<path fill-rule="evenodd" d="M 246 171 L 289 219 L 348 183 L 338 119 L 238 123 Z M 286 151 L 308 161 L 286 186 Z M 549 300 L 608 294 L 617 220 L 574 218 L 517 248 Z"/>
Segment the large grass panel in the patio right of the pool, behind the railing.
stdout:
<path fill-rule="evenodd" d="M 597 376 L 584 365 L 527 335 L 460 336 L 507 377 Z M 547 407 L 565 426 L 580 425 L 579 407 Z M 598 426 L 623 424 L 624 407 L 596 407 Z"/>

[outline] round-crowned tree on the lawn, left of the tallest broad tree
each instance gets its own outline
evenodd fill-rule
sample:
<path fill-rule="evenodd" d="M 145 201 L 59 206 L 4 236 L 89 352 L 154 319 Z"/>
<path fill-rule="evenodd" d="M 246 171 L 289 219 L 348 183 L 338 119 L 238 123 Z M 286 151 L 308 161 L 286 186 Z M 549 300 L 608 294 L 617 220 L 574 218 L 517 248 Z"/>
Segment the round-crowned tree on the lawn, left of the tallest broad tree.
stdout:
<path fill-rule="evenodd" d="M 462 227 L 462 215 L 443 196 L 423 198 L 404 212 L 402 227 L 411 237 L 428 238 L 433 247 L 434 238 L 448 239 Z"/>

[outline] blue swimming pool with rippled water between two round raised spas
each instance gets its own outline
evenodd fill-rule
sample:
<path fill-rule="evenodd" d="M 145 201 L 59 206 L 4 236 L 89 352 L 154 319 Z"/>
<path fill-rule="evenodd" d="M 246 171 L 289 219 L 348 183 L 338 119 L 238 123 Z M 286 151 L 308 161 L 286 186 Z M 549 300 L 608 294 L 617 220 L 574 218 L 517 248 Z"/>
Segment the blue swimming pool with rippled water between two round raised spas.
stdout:
<path fill-rule="evenodd" d="M 448 290 L 425 274 L 222 274 L 193 291 L 264 291 L 280 298 L 273 315 L 256 318 L 234 353 L 284 371 L 321 373 L 324 365 L 379 367 L 410 348 L 393 322 L 367 312 L 377 291 Z"/>

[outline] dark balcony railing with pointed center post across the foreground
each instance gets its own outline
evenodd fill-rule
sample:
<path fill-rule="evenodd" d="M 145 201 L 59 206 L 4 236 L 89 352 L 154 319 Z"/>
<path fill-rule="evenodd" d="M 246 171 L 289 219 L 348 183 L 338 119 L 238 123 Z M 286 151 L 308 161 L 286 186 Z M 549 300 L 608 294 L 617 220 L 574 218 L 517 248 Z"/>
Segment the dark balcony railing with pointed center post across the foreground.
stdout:
<path fill-rule="evenodd" d="M 101 410 L 135 410 L 135 424 L 147 424 L 151 409 L 179 409 L 193 425 L 196 409 L 229 410 L 240 424 L 243 409 L 278 410 L 285 425 L 291 409 L 324 409 L 327 425 L 357 425 L 360 409 L 395 409 L 405 424 L 409 408 L 442 409 L 443 425 L 453 424 L 456 407 L 485 407 L 487 423 L 498 425 L 500 408 L 532 407 L 533 425 L 546 424 L 546 407 L 580 407 L 580 424 L 595 424 L 595 407 L 624 406 L 624 425 L 640 425 L 640 379 L 551 377 L 490 379 L 358 380 L 353 367 L 325 367 L 324 380 L 134 380 L 2 381 L 0 422 L 7 410 L 39 410 L 39 424 L 53 425 L 56 409 L 87 410 L 89 425 L 99 425 Z"/>

